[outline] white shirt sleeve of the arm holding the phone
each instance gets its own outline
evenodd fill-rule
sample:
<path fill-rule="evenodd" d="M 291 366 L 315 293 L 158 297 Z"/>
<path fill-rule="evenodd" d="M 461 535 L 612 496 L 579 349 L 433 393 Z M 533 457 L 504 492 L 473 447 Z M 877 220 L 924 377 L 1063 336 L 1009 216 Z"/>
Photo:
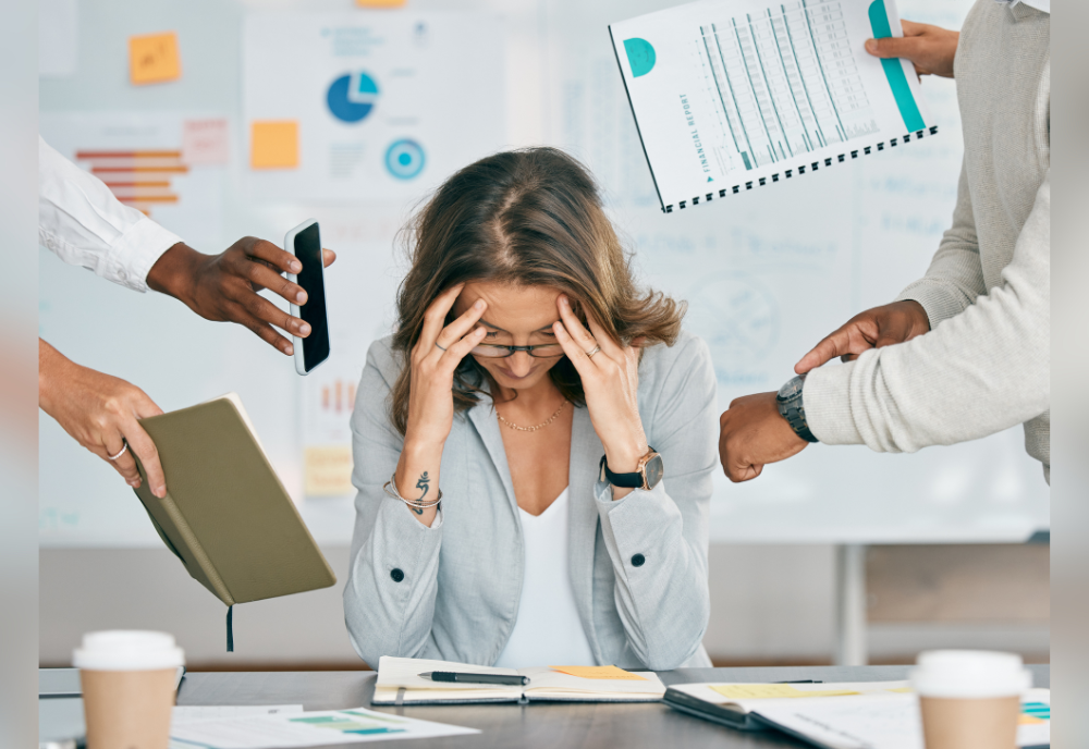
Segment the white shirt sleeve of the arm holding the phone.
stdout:
<path fill-rule="evenodd" d="M 38 136 L 38 242 L 64 262 L 108 281 L 147 291 L 147 274 L 181 242 L 135 208 L 125 206 L 95 175 L 79 169 Z"/>

